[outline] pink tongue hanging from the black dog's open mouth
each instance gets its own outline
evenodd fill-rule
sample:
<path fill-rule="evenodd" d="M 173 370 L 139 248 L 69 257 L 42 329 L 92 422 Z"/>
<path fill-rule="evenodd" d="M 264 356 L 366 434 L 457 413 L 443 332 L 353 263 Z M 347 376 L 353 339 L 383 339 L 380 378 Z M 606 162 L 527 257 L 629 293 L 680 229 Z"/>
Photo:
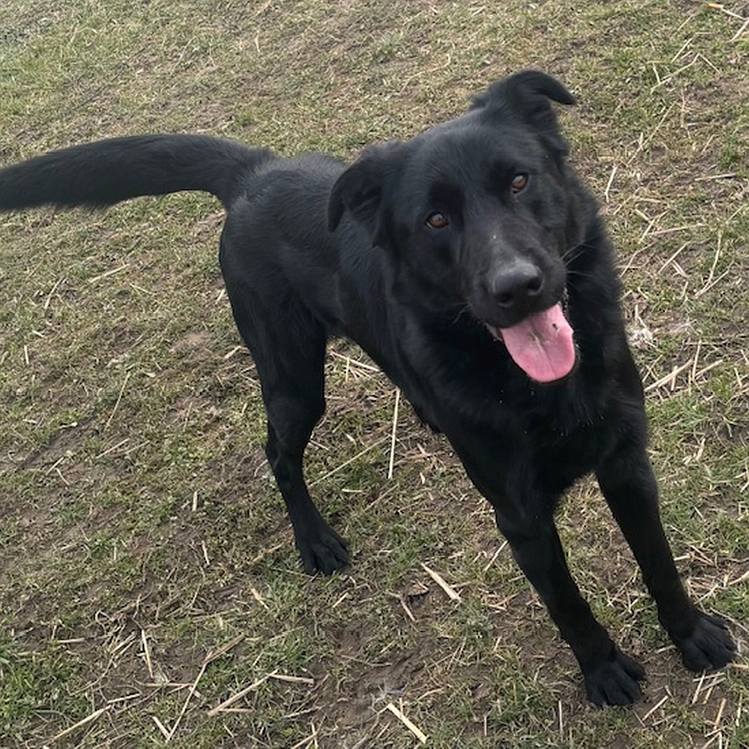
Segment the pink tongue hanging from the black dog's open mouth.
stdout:
<path fill-rule="evenodd" d="M 553 382 L 574 367 L 572 328 L 561 304 L 512 327 L 500 328 L 500 333 L 515 364 L 533 380 Z"/>

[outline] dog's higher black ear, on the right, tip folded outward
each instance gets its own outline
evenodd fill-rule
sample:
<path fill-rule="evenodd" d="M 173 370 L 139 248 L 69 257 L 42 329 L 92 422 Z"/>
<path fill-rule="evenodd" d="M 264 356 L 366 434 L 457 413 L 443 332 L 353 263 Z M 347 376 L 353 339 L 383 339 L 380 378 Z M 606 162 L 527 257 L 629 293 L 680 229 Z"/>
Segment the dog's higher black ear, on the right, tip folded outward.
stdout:
<path fill-rule="evenodd" d="M 550 101 L 574 104 L 574 96 L 556 79 L 540 70 L 521 70 L 493 83 L 473 99 L 471 109 L 520 115 L 541 129 L 556 130 L 557 117 Z"/>

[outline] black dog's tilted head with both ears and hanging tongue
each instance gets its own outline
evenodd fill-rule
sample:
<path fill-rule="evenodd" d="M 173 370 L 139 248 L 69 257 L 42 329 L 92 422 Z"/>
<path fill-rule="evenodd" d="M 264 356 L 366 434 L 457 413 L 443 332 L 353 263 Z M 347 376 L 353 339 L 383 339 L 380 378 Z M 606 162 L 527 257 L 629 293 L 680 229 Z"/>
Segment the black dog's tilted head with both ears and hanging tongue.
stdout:
<path fill-rule="evenodd" d="M 564 257 L 582 240 L 551 101 L 574 98 L 545 73 L 494 83 L 461 117 L 364 151 L 336 181 L 328 214 L 333 231 L 348 211 L 395 255 L 395 293 L 468 309 L 539 381 L 574 366 Z"/>

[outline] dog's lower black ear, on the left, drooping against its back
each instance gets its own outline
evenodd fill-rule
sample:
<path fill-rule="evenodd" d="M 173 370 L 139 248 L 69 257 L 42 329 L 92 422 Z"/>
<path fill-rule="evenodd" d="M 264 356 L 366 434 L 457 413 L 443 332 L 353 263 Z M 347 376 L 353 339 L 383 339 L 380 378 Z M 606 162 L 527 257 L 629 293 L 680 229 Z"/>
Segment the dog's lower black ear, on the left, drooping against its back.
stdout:
<path fill-rule="evenodd" d="M 404 144 L 393 141 L 366 148 L 361 156 L 336 180 L 328 198 L 328 228 L 334 231 L 343 212 L 365 225 L 375 236 L 379 224 L 380 201 L 389 175 L 400 162 Z"/>

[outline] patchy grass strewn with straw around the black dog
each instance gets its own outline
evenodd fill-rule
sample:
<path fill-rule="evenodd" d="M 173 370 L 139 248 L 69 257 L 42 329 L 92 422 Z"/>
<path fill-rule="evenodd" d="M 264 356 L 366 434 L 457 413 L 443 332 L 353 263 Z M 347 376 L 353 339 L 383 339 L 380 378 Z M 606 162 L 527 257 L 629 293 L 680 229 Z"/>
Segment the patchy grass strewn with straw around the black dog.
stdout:
<path fill-rule="evenodd" d="M 0 160 L 148 131 L 353 157 L 537 66 L 619 247 L 662 512 L 746 650 L 749 33 L 740 3 L 0 7 Z M 742 16 L 743 14 L 743 16 Z M 749 745 L 745 659 L 688 674 L 590 482 L 560 512 L 645 665 L 598 711 L 448 447 L 344 342 L 307 458 L 351 568 L 301 574 L 201 195 L 0 216 L 0 746 Z M 422 564 L 460 594 L 452 601 Z M 221 709 L 237 693 L 243 696 Z"/>

